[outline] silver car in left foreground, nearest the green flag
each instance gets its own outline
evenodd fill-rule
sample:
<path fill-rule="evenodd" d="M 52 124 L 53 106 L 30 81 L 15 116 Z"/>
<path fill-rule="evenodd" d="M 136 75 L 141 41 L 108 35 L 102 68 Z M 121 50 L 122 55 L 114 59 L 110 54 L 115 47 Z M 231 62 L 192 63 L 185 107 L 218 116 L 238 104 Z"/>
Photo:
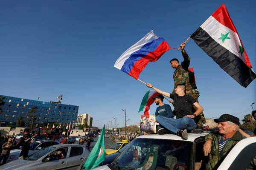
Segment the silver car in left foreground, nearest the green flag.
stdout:
<path fill-rule="evenodd" d="M 1 166 L 1 170 L 76 170 L 89 156 L 84 145 L 57 144 Z"/>

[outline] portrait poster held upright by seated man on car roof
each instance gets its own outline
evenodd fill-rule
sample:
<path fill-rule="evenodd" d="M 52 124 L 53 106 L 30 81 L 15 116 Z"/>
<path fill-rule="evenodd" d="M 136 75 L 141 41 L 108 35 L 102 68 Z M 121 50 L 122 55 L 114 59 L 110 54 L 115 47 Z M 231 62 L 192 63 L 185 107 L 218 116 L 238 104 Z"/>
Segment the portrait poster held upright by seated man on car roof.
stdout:
<path fill-rule="evenodd" d="M 140 117 L 140 131 L 146 133 L 157 133 L 157 125 L 155 123 L 155 115 L 141 115 Z"/>

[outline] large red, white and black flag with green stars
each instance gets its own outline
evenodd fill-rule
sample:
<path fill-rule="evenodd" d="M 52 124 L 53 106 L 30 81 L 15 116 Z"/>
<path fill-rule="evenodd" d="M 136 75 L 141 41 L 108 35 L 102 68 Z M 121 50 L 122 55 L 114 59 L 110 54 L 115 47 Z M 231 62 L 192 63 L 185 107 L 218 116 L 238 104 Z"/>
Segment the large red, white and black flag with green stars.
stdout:
<path fill-rule="evenodd" d="M 243 87 L 246 88 L 256 78 L 236 27 L 224 4 L 191 37 Z"/>

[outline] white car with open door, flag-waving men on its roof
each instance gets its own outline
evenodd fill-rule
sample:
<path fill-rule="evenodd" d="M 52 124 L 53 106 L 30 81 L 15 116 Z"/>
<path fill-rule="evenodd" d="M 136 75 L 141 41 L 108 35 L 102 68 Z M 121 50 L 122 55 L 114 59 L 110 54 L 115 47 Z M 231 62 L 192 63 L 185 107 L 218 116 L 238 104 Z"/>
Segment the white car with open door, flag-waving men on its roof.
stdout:
<path fill-rule="evenodd" d="M 108 165 L 93 170 L 199 170 L 208 162 L 204 156 L 204 136 L 207 133 L 188 133 L 183 140 L 173 134 L 144 135 L 134 139 Z M 134 150 L 137 149 L 137 159 Z M 256 156 L 256 137 L 243 139 L 230 151 L 218 170 L 245 170 Z M 134 161 L 135 160 L 135 161 Z"/>

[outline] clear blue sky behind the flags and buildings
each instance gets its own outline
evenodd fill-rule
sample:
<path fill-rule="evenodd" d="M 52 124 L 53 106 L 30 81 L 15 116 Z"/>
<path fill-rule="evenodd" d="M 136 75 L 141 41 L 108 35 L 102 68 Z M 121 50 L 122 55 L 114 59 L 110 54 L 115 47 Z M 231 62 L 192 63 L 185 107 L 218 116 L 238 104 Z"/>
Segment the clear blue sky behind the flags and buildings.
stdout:
<path fill-rule="evenodd" d="M 6 0 L 0 6 L 0 94 L 79 105 L 93 126 L 109 121 L 137 125 L 149 89 L 114 68 L 116 59 L 150 30 L 177 48 L 224 3 L 256 71 L 256 2 L 251 0 Z M 247 88 L 224 72 L 193 40 L 186 51 L 194 67 L 200 104 L 207 118 L 230 113 L 240 119 L 256 102 L 256 80 Z M 167 51 L 149 63 L 140 79 L 173 90 Z M 165 100 L 166 102 L 166 100 Z M 256 109 L 256 104 L 253 105 Z M 172 107 L 173 108 L 173 107 Z M 153 104 L 151 113 L 156 106 Z M 109 125 L 110 126 L 110 125 Z M 108 127 L 108 126 L 107 126 Z"/>

